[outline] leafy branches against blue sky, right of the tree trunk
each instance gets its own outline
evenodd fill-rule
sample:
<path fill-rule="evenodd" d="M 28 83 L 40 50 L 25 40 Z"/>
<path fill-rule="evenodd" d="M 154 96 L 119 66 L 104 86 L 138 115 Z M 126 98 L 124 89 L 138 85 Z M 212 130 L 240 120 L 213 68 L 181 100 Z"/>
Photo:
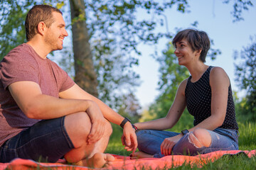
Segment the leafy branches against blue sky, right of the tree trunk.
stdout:
<path fill-rule="evenodd" d="M 90 33 L 90 44 L 97 69 L 100 91 L 99 97 L 110 106 L 111 99 L 122 98 L 120 91 L 134 91 L 139 85 L 139 75 L 132 70 L 139 64 L 138 49 L 140 43 L 154 45 L 159 38 L 171 37 L 170 33 L 161 33 L 157 27 L 166 24 L 163 21 L 164 11 L 174 4 L 183 8 L 186 1 L 85 1 L 87 26 Z M 181 5 L 182 4 L 182 5 Z M 143 11 L 146 17 L 138 15 Z M 99 74 L 100 73 L 100 74 Z M 127 94 L 129 95 L 129 94 Z"/>

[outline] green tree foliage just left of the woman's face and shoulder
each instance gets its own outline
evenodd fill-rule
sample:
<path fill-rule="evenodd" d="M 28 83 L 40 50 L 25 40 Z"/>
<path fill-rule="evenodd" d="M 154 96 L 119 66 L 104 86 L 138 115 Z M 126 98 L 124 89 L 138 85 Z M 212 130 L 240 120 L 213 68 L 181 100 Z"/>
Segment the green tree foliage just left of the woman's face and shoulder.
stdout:
<path fill-rule="evenodd" d="M 160 94 L 156 98 L 156 103 L 149 107 L 149 114 L 155 115 L 156 118 L 164 118 L 166 116 L 174 102 L 179 84 L 189 76 L 188 69 L 178 65 L 174 50 L 174 46 L 169 43 L 163 55 L 156 59 L 160 65 L 160 79 L 158 83 Z"/>

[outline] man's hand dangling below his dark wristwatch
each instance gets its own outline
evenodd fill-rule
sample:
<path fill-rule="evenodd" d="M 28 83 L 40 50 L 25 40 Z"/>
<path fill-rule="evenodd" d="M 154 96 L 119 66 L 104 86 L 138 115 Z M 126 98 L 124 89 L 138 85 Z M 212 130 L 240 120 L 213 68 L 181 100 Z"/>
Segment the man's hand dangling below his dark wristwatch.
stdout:
<path fill-rule="evenodd" d="M 132 128 L 131 123 L 126 123 L 124 125 L 123 135 L 121 137 L 122 145 L 127 151 L 132 151 L 134 153 L 138 147 L 137 135 L 135 134 L 134 128 Z"/>

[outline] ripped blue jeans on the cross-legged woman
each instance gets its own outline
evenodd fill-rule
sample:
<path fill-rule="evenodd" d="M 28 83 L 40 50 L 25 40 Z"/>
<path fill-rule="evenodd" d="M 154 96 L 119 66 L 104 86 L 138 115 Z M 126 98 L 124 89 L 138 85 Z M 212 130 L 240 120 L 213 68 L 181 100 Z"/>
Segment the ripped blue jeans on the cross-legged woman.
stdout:
<path fill-rule="evenodd" d="M 188 134 L 181 137 L 172 149 L 172 154 L 207 154 L 218 150 L 238 150 L 238 130 L 228 130 L 216 128 L 208 130 L 212 138 L 210 147 L 195 147 L 188 141 Z M 138 130 L 137 131 L 138 149 L 147 154 L 154 155 L 156 158 L 164 157 L 161 154 L 161 143 L 167 137 L 174 137 L 180 133 L 161 130 Z"/>

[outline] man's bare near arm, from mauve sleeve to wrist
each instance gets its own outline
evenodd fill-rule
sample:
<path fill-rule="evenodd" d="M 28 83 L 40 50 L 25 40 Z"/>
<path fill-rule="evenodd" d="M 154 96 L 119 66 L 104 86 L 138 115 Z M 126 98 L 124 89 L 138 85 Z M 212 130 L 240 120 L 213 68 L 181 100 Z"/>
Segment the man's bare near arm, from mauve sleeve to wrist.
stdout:
<path fill-rule="evenodd" d="M 91 105 L 95 105 L 90 100 L 62 99 L 44 95 L 40 86 L 33 81 L 17 81 L 9 86 L 9 91 L 21 111 L 28 118 L 34 119 L 60 118 L 71 113 L 85 112 Z"/>

